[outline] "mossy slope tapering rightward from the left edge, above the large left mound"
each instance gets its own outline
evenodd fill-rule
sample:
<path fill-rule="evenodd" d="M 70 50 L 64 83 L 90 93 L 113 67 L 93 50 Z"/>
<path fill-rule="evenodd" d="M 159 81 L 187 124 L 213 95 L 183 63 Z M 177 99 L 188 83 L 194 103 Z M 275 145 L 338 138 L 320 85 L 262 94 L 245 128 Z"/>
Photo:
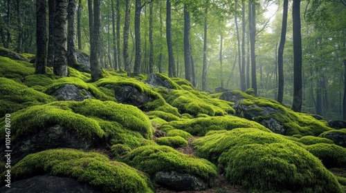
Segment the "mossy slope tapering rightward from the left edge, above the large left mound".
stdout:
<path fill-rule="evenodd" d="M 32 105 L 55 101 L 52 96 L 38 92 L 26 85 L 0 77 L 0 117 Z"/>

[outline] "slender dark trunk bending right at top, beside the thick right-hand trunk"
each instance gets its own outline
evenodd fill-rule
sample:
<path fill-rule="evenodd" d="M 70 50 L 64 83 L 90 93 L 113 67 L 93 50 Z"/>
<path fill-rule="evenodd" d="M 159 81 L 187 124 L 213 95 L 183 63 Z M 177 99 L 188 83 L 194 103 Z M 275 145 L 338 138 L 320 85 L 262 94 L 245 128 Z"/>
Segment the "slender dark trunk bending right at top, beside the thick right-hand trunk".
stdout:
<path fill-rule="evenodd" d="M 277 68 L 279 71 L 279 88 L 277 90 L 277 102 L 282 104 L 284 100 L 284 43 L 286 41 L 286 29 L 287 29 L 287 12 L 289 10 L 289 0 L 284 0 L 284 12 L 282 15 L 282 30 L 281 39 L 279 45 L 279 51 L 277 53 Z"/>

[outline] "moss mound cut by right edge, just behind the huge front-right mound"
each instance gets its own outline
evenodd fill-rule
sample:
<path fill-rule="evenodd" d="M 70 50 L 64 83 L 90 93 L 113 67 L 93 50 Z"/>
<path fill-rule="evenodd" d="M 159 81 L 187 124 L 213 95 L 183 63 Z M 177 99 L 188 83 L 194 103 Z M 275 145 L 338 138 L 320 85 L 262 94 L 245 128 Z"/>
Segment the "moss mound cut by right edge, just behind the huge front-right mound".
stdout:
<path fill-rule="evenodd" d="M 317 143 L 308 145 L 305 149 L 318 157 L 327 168 L 346 168 L 346 148 L 334 144 Z"/>

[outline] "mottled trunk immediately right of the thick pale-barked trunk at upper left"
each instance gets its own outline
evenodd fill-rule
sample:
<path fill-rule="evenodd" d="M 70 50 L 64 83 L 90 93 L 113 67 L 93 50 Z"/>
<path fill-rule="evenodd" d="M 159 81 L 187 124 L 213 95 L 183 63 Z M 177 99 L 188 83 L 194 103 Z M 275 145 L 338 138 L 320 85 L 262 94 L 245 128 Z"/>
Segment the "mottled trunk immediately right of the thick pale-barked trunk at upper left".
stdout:
<path fill-rule="evenodd" d="M 67 63 L 68 65 L 74 65 L 77 63 L 77 54 L 75 53 L 75 38 L 76 38 L 76 28 L 75 28 L 75 15 L 77 12 L 77 1 L 69 0 L 68 7 L 68 21 L 69 21 L 69 34 L 67 37 Z"/>

